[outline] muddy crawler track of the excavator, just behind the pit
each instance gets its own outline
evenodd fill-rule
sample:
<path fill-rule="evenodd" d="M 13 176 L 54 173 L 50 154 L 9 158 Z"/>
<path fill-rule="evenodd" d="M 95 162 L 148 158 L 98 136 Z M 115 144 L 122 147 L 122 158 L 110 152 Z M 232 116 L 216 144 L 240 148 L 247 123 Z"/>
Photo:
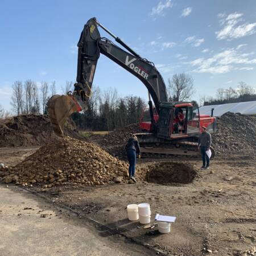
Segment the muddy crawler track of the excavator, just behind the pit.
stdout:
<path fill-rule="evenodd" d="M 138 138 L 141 155 L 144 158 L 168 158 L 170 156 L 188 156 L 199 158 L 200 151 L 197 149 L 197 137 L 184 139 L 166 140 L 157 138 L 152 133 L 135 134 Z M 214 158 L 214 148 L 211 158 Z"/>

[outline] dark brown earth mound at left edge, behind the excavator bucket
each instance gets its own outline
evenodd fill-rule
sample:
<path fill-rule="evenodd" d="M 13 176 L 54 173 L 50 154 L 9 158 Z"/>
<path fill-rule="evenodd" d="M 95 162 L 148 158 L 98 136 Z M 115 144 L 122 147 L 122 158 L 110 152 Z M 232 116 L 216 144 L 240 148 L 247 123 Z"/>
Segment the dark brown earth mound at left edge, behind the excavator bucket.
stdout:
<path fill-rule="evenodd" d="M 73 138 L 82 138 L 71 119 L 64 133 Z M 0 124 L 0 147 L 41 146 L 58 140 L 47 115 L 18 115 Z"/>

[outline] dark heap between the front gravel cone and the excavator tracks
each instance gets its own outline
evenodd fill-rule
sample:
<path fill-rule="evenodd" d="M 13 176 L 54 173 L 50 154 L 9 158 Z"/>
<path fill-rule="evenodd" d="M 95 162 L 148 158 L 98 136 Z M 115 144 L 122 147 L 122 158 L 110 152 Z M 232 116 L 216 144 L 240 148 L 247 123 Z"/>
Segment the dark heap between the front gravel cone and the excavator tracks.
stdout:
<path fill-rule="evenodd" d="M 109 154 L 124 158 L 126 156 L 125 145 L 128 139 L 132 134 L 141 132 L 138 123 L 134 123 L 111 131 L 106 135 L 92 135 L 89 139 L 109 152 Z"/>

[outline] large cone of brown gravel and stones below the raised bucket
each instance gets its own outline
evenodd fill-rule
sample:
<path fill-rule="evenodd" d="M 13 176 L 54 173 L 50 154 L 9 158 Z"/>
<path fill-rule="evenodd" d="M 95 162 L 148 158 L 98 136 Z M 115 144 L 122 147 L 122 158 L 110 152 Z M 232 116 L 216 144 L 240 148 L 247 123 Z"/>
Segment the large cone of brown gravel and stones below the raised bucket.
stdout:
<path fill-rule="evenodd" d="M 127 169 L 127 163 L 95 144 L 65 137 L 46 144 L 22 163 L 9 168 L 2 181 L 44 187 L 67 183 L 103 185 L 127 182 Z M 138 170 L 138 180 L 144 172 L 143 168 Z"/>

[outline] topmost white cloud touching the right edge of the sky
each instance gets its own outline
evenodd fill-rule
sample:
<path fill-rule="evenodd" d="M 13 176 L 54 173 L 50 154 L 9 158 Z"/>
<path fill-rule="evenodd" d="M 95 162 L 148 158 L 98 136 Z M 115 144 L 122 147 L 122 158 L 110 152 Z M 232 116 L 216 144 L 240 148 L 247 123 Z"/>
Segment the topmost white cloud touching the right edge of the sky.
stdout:
<path fill-rule="evenodd" d="M 226 16 L 225 14 L 218 14 L 221 26 L 220 31 L 215 32 L 218 40 L 235 38 L 242 38 L 243 36 L 253 35 L 256 33 L 256 23 L 238 23 L 243 22 L 242 13 L 232 13 Z"/>

